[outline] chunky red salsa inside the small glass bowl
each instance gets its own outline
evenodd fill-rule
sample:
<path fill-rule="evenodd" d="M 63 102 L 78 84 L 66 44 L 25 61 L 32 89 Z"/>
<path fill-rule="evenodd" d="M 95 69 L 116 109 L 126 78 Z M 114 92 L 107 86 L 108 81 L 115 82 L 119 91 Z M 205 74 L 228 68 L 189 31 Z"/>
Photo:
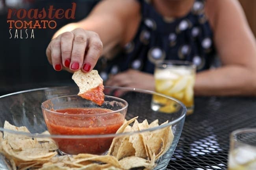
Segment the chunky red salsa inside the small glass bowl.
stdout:
<path fill-rule="evenodd" d="M 63 114 L 45 114 L 48 131 L 52 135 L 96 135 L 115 133 L 124 122 L 121 113 L 102 108 L 67 108 L 56 110 Z M 65 116 L 67 115 L 67 116 Z M 109 138 L 54 139 L 66 154 L 102 154 L 109 149 Z"/>

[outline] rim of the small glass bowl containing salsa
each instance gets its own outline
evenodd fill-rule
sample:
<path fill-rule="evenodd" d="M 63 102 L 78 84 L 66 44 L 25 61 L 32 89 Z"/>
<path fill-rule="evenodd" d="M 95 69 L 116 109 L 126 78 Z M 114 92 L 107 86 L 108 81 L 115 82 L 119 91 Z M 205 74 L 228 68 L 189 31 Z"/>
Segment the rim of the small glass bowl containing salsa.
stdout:
<path fill-rule="evenodd" d="M 60 99 L 60 98 L 67 98 L 67 97 L 78 97 L 78 99 L 80 99 L 80 98 L 83 99 L 82 97 L 80 97 L 80 96 L 78 96 L 78 95 L 66 95 L 66 96 L 54 97 L 54 98 L 51 98 L 51 99 L 48 99 L 48 100 L 42 102 L 41 108 L 42 108 L 43 110 L 47 111 L 47 112 L 50 112 L 50 113 L 54 114 L 54 115 L 63 115 L 63 113 L 60 113 L 60 112 L 56 112 L 56 111 L 52 111 L 52 110 L 43 108 L 43 107 L 44 107 L 43 104 L 44 104 L 45 102 L 48 102 L 48 101 L 53 100 L 53 99 Z M 104 99 L 105 99 L 105 97 L 110 98 L 110 99 L 117 99 L 117 100 L 123 102 L 123 103 L 124 103 L 124 106 L 123 106 L 121 109 L 118 109 L 118 110 L 112 110 L 111 112 L 100 113 L 101 116 L 102 116 L 102 115 L 111 115 L 111 114 L 113 114 L 113 113 L 119 113 L 119 112 L 122 112 L 122 111 L 124 111 L 124 110 L 126 110 L 126 109 L 128 108 L 128 105 L 129 105 L 129 104 L 128 104 L 128 102 L 125 101 L 124 99 L 121 99 L 121 98 L 115 97 L 115 96 L 109 96 L 109 95 L 105 95 L 105 96 L 104 96 Z M 87 99 L 84 99 L 84 100 L 87 100 Z M 87 101 L 89 101 L 89 100 L 87 100 Z M 105 101 L 104 101 L 104 102 L 105 102 Z M 100 108 L 100 107 L 99 107 L 99 108 Z M 97 114 L 97 113 L 95 113 L 95 114 L 90 114 L 90 115 L 67 114 L 67 115 L 65 115 L 65 116 L 67 116 L 67 117 L 91 117 L 91 116 L 96 116 L 96 115 L 99 115 L 99 114 Z"/>

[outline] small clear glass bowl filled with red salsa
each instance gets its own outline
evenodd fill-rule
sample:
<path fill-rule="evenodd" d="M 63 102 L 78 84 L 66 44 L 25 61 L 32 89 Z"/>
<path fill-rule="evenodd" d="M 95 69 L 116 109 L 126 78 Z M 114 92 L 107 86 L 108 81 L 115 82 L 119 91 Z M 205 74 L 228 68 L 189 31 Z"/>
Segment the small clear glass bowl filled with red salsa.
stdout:
<path fill-rule="evenodd" d="M 105 95 L 99 106 L 78 95 L 48 99 L 41 105 L 51 135 L 100 135 L 116 133 L 124 123 L 128 103 Z M 112 143 L 111 137 L 91 139 L 54 139 L 62 154 L 103 154 Z"/>

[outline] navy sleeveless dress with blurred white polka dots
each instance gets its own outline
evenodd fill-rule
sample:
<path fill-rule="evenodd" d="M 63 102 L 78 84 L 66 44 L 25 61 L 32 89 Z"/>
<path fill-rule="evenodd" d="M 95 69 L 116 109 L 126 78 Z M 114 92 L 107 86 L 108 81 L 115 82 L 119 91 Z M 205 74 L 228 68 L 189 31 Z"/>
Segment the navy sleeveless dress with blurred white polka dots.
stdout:
<path fill-rule="evenodd" d="M 98 61 L 103 80 L 130 68 L 153 73 L 158 60 L 189 60 L 197 71 L 210 68 L 215 49 L 204 0 L 195 0 L 186 16 L 175 19 L 164 18 L 146 0 L 139 2 L 142 19 L 134 39 L 112 60 Z"/>

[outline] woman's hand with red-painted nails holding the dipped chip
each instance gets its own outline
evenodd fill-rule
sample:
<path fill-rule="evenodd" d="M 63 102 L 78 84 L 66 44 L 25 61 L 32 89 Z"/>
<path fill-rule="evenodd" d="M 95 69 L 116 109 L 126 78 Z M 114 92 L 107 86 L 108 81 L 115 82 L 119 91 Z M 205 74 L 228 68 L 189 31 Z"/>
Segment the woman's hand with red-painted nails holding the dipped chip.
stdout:
<path fill-rule="evenodd" d="M 97 33 L 76 28 L 52 39 L 46 49 L 50 64 L 56 71 L 66 69 L 89 72 L 94 68 L 102 52 L 102 42 Z"/>

